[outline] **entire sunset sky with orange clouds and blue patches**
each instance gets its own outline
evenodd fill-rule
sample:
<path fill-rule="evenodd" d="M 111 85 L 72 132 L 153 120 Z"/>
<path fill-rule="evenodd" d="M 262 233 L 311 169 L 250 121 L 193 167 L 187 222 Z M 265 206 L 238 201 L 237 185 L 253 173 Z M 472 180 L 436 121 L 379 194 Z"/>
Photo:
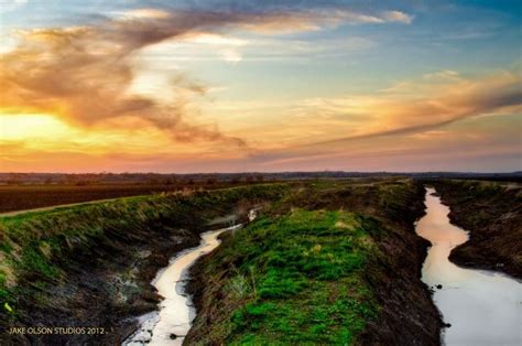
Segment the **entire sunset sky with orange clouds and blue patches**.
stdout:
<path fill-rule="evenodd" d="M 0 172 L 522 170 L 520 1 L 0 0 Z"/>

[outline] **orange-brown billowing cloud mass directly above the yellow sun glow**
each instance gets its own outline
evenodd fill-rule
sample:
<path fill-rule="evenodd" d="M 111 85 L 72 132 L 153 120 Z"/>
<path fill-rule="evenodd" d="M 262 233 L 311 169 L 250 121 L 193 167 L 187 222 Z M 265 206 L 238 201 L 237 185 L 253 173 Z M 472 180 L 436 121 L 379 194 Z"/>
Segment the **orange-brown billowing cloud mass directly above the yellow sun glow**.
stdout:
<path fill-rule="evenodd" d="M 118 25 L 112 23 L 111 28 L 120 35 Z M 11 113 L 59 115 L 84 126 L 137 117 L 170 131 L 180 141 L 205 139 L 244 144 L 240 139 L 227 138 L 213 128 L 193 126 L 184 119 L 186 96 L 205 93 L 203 86 L 184 76 L 173 78 L 172 88 L 180 93 L 168 104 L 129 94 L 132 52 L 146 44 L 146 40 L 138 44 L 105 35 L 105 31 L 94 28 L 24 33 L 22 44 L 2 56 L 0 63 L 0 108 Z"/>

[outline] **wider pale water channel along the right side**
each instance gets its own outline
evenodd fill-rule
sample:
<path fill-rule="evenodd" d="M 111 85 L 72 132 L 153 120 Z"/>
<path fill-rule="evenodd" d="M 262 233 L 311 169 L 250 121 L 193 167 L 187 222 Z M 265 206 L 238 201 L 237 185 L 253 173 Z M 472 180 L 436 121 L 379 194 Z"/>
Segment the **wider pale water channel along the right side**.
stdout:
<path fill-rule="evenodd" d="M 449 323 L 446 345 L 522 345 L 522 283 L 504 274 L 469 270 L 448 260 L 468 234 L 452 225 L 449 208 L 427 188 L 426 215 L 416 233 L 429 240 L 422 280 L 435 290 L 433 300 Z M 442 285 L 442 289 L 437 289 Z"/>

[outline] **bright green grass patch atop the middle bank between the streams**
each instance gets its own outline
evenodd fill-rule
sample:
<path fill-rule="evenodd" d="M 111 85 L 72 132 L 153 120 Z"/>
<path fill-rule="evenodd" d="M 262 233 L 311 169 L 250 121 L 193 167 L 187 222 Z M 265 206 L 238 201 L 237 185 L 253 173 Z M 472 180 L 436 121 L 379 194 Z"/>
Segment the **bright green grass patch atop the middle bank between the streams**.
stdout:
<path fill-rule="evenodd" d="M 238 345 L 352 343 L 379 310 L 362 278 L 379 256 L 369 225 L 348 212 L 296 209 L 238 231 L 207 267 L 216 280 L 233 268 L 219 304 L 236 305 L 210 335 Z"/>

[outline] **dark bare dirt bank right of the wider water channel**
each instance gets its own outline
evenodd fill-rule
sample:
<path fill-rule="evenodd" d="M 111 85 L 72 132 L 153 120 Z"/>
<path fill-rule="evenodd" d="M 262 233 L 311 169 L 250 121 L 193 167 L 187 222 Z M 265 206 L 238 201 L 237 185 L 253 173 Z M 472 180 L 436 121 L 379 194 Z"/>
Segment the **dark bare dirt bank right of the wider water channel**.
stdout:
<path fill-rule="evenodd" d="M 469 230 L 469 240 L 449 260 L 461 267 L 490 269 L 522 279 L 522 187 L 515 183 L 435 181 L 453 224 Z"/>

